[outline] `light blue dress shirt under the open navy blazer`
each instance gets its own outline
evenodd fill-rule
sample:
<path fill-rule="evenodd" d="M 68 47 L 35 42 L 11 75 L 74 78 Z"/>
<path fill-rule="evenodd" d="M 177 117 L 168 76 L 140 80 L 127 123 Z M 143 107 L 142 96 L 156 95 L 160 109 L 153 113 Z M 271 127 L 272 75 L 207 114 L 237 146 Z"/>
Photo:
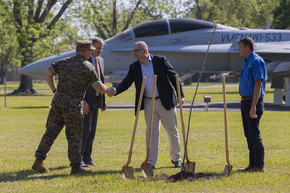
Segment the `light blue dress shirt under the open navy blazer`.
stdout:
<path fill-rule="evenodd" d="M 148 64 L 142 64 L 140 62 L 141 65 L 141 70 L 142 70 L 142 76 L 146 77 L 146 82 L 145 82 L 145 87 L 144 87 L 144 96 L 152 98 L 152 91 L 153 91 L 153 79 L 154 79 L 154 70 L 153 70 L 153 64 L 152 64 L 152 60 L 151 57 L 149 55 L 149 60 L 148 60 Z M 155 89 L 155 97 L 159 96 L 158 94 L 158 90 L 157 90 L 157 86 Z"/>

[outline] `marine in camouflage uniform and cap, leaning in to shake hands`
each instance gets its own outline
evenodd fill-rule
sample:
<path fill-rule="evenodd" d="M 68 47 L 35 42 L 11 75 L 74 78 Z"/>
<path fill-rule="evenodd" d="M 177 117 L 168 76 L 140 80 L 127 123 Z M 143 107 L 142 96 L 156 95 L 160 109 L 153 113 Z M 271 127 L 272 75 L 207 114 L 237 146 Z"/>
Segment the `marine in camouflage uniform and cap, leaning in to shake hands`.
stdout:
<path fill-rule="evenodd" d="M 90 47 L 88 47 L 89 44 Z M 77 47 L 95 49 L 91 46 L 91 40 L 77 41 Z M 92 87 L 98 87 L 102 82 L 93 65 L 79 54 L 53 62 L 48 67 L 48 71 L 52 75 L 59 74 L 59 82 L 57 92 L 51 102 L 51 109 L 46 122 L 46 132 L 35 152 L 35 157 L 45 160 L 53 142 L 62 128 L 66 126 L 70 166 L 78 167 L 81 163 L 80 151 L 84 122 L 82 100 L 89 82 Z M 41 164 L 43 163 L 41 162 Z M 41 170 L 40 172 L 48 171 L 47 169 L 47 171 Z"/>

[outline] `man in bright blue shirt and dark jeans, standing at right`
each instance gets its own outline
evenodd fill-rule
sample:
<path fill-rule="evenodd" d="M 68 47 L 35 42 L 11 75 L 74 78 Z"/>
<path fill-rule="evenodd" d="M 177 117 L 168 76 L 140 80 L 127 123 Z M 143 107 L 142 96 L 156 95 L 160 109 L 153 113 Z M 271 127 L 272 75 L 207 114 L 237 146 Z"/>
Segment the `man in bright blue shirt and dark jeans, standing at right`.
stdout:
<path fill-rule="evenodd" d="M 249 148 L 249 166 L 238 170 L 245 172 L 264 172 L 264 145 L 260 136 L 260 119 L 264 112 L 264 94 L 266 89 L 266 64 L 254 52 L 254 41 L 250 37 L 238 42 L 240 56 L 246 57 L 240 74 L 239 93 L 241 95 L 241 113 L 244 134 Z"/>

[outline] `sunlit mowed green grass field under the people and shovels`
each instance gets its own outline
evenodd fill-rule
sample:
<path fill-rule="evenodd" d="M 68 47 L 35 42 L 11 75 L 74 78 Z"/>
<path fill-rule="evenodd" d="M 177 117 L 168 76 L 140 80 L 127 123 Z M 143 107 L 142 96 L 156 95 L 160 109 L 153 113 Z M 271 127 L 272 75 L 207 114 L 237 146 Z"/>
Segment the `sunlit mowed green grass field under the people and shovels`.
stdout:
<path fill-rule="evenodd" d="M 200 84 L 201 85 L 201 84 Z M 108 85 L 110 86 L 110 85 Z M 40 86 L 41 87 L 41 86 Z M 3 90 L 3 85 L 0 90 Z M 12 87 L 12 89 L 16 89 Z M 11 89 L 11 90 L 12 90 Z M 45 84 L 41 89 L 46 88 Z M 273 89 L 267 87 L 265 101 L 273 100 Z M 184 88 L 187 101 L 192 101 L 195 88 Z M 226 87 L 228 101 L 238 101 L 237 87 Z M 204 94 L 222 101 L 222 88 L 198 88 L 196 101 Z M 145 121 L 141 111 L 130 166 L 134 179 L 124 180 L 120 166 L 126 164 L 135 121 L 134 111 L 108 110 L 99 113 L 93 147 L 93 160 L 100 167 L 90 167 L 92 174 L 70 175 L 65 128 L 55 140 L 44 161 L 50 172 L 31 169 L 34 154 L 45 132 L 52 92 L 36 96 L 0 93 L 0 192 L 290 192 L 289 112 L 265 111 L 260 123 L 265 146 L 264 173 L 240 173 L 237 168 L 248 166 L 248 149 L 243 134 L 240 112 L 227 112 L 229 160 L 232 175 L 222 177 L 226 163 L 223 112 L 193 112 L 189 131 L 189 160 L 196 162 L 195 172 L 203 178 L 168 183 L 160 177 L 173 175 L 168 139 L 161 126 L 157 170 L 145 179 L 140 163 L 145 160 Z M 107 102 L 133 102 L 135 90 L 106 98 Z M 267 109 L 266 109 L 267 110 Z M 177 112 L 180 122 L 180 113 Z M 184 112 L 187 129 L 189 113 Z M 181 149 L 184 148 L 179 127 Z M 184 151 L 182 150 L 182 158 Z"/>

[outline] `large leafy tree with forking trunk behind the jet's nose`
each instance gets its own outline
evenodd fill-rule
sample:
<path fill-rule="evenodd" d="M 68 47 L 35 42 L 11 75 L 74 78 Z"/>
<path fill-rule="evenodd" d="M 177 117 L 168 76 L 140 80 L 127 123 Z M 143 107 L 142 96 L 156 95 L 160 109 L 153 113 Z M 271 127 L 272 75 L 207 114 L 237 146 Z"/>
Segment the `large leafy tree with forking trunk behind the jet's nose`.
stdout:
<path fill-rule="evenodd" d="M 17 41 L 21 49 L 21 67 L 33 62 L 33 49 L 39 48 L 39 46 L 36 46 L 37 41 L 42 40 L 42 45 L 48 42 L 46 38 L 50 35 L 59 33 L 58 30 L 61 30 L 61 26 L 57 25 L 57 22 L 71 2 L 72 0 L 67 0 L 64 3 L 57 2 L 57 0 L 13 0 L 13 16 L 15 20 L 13 24 L 16 28 Z M 55 15 L 54 13 L 57 14 Z M 57 41 L 58 35 L 54 37 L 52 35 L 51 37 Z M 35 55 L 39 56 L 39 54 Z M 13 93 L 23 92 L 35 93 L 32 88 L 32 77 L 21 75 L 20 86 Z"/>

